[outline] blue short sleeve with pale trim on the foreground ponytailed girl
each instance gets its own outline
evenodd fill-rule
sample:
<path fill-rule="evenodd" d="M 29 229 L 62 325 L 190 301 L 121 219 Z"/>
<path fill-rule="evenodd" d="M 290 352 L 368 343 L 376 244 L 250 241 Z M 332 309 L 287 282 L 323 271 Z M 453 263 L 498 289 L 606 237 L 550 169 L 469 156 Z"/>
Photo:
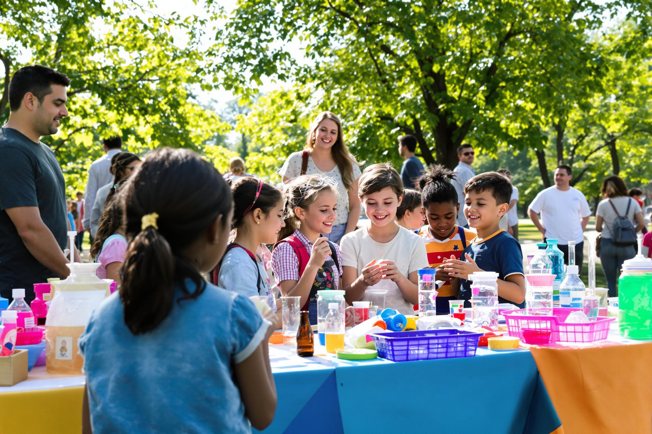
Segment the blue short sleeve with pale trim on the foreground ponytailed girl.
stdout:
<path fill-rule="evenodd" d="M 230 325 L 233 362 L 237 364 L 256 350 L 265 338 L 269 322 L 263 321 L 252 301 L 242 295 L 237 295 L 231 306 Z"/>

